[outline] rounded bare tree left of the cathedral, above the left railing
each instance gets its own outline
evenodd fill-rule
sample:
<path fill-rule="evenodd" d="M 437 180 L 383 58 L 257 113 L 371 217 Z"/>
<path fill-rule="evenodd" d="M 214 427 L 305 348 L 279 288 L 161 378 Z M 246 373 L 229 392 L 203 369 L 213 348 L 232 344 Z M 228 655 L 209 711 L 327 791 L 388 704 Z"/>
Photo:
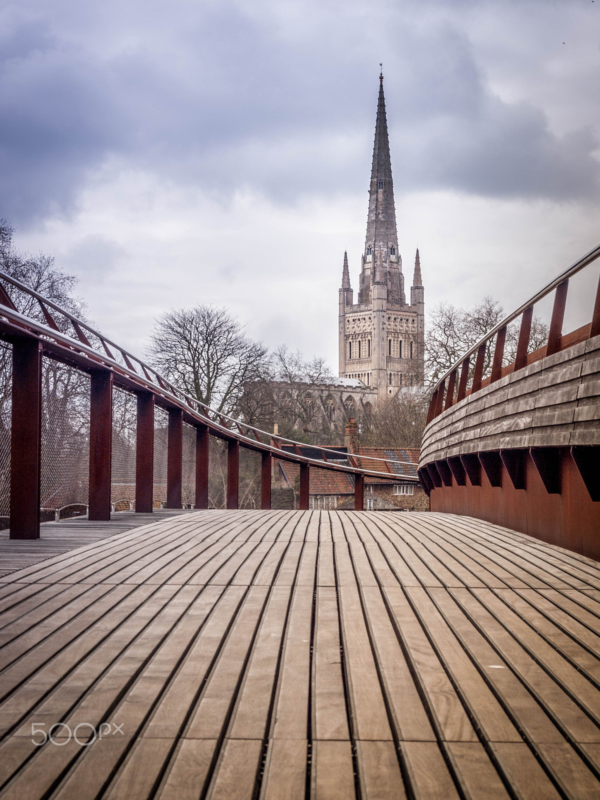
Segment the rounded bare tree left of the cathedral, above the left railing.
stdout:
<path fill-rule="evenodd" d="M 166 311 L 154 324 L 148 358 L 182 391 L 224 414 L 235 413 L 244 386 L 264 378 L 267 350 L 224 308 Z"/>

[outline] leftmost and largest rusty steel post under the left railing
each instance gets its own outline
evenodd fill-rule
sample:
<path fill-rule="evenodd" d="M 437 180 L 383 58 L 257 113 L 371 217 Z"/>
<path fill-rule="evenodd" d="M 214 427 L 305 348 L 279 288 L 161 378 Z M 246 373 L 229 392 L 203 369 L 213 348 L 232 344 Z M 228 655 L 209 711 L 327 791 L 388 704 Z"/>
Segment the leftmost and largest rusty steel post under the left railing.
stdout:
<path fill-rule="evenodd" d="M 10 538 L 39 538 L 42 451 L 42 344 L 13 345 L 10 430 Z"/>

